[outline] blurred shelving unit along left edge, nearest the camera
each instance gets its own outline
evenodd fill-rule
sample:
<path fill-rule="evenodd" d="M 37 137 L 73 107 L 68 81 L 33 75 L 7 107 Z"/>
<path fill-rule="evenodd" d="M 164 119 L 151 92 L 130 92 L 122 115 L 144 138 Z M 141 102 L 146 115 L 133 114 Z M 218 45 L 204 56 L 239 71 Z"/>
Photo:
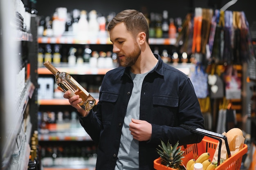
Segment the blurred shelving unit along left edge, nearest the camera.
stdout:
<path fill-rule="evenodd" d="M 16 2 L 15 2 L 16 3 Z M 37 113 L 35 94 L 37 91 L 37 63 L 36 63 L 36 15 L 31 15 L 31 32 L 21 31 L 16 27 L 17 17 L 14 10 L 14 1 L 0 2 L 0 63 L 1 63 L 1 91 L 0 99 L 0 152 L 1 170 L 26 170 L 30 155 L 31 133 L 37 129 L 34 127 L 33 117 Z M 25 46 L 23 51 L 20 46 Z M 36 66 L 21 66 L 20 57 L 25 57 Z M 36 67 L 36 68 L 35 68 Z M 25 79 L 24 84 L 18 84 L 20 68 L 26 68 L 25 74 L 20 74 Z M 31 72 L 30 72 L 31 71 Z M 27 79 L 26 79 L 27 78 Z M 18 87 L 22 87 L 19 89 Z M 17 89 L 20 90 L 17 93 Z M 20 140 L 20 141 L 18 141 Z M 18 148 L 18 149 L 17 149 Z M 17 152 L 18 150 L 18 152 Z"/>

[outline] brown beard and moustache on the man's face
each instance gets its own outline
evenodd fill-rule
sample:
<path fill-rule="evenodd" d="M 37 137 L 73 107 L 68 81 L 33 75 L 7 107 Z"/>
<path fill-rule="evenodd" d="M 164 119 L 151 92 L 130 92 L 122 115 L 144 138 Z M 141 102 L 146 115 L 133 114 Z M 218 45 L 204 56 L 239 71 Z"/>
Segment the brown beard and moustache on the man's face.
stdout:
<path fill-rule="evenodd" d="M 120 65 L 123 67 L 134 65 L 137 59 L 139 58 L 140 54 L 141 49 L 139 48 L 139 45 L 135 43 L 135 49 L 131 53 L 125 55 L 125 57 L 122 60 L 120 60 Z"/>

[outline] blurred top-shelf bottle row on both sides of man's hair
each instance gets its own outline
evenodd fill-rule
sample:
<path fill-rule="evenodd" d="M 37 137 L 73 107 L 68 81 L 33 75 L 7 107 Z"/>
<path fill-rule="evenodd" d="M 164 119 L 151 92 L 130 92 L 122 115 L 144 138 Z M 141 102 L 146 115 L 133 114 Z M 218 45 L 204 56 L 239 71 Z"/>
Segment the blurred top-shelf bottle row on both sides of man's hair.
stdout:
<path fill-rule="evenodd" d="M 142 13 L 148 21 L 150 38 L 176 38 L 177 33 L 182 29 L 182 18 L 169 17 L 167 10 L 162 13 L 148 13 L 144 9 Z M 83 40 L 106 37 L 108 22 L 115 15 L 115 12 L 103 15 L 96 10 L 67 11 L 67 8 L 59 7 L 52 16 L 40 16 L 38 35 L 48 37 L 72 35 Z"/>

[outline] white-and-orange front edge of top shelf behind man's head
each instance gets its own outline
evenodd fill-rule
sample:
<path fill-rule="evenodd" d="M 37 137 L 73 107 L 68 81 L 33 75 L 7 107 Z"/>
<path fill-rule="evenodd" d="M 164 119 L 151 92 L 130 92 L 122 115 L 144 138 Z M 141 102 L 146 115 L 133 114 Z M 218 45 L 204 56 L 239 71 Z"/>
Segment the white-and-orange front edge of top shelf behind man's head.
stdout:
<path fill-rule="evenodd" d="M 174 45 L 176 38 L 149 38 L 149 44 Z M 83 40 L 74 36 L 38 37 L 39 44 L 112 44 L 109 37 Z"/>

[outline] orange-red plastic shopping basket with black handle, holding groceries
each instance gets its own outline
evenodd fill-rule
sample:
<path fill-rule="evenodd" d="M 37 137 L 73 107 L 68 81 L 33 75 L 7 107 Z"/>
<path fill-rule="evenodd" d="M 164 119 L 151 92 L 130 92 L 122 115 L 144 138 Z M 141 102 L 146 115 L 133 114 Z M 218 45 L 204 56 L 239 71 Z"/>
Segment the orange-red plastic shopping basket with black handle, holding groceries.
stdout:
<path fill-rule="evenodd" d="M 213 155 L 215 153 L 218 143 L 222 143 L 221 138 L 224 139 L 224 141 L 226 141 L 225 143 L 227 143 L 227 137 L 225 135 L 221 135 L 208 130 L 203 130 L 200 128 L 193 128 L 191 126 L 182 125 L 182 127 L 189 129 L 193 132 L 205 135 L 202 141 L 198 144 L 189 144 L 186 146 L 186 148 L 182 146 L 182 150 L 184 150 L 184 158 L 182 159 L 182 163 L 184 164 L 184 166 L 186 166 L 186 163 L 190 159 L 197 159 L 204 152 L 209 152 L 211 155 L 210 158 L 213 159 Z M 244 144 L 244 147 L 232 156 L 230 154 L 228 145 L 226 145 L 226 148 L 229 158 L 220 164 L 220 155 L 218 155 L 218 166 L 215 168 L 215 170 L 240 170 L 242 157 L 247 153 L 247 145 Z M 169 168 L 166 167 L 165 165 L 162 165 L 160 157 L 158 159 L 155 159 L 154 168 L 156 170 L 175 170 L 173 168 Z"/>

